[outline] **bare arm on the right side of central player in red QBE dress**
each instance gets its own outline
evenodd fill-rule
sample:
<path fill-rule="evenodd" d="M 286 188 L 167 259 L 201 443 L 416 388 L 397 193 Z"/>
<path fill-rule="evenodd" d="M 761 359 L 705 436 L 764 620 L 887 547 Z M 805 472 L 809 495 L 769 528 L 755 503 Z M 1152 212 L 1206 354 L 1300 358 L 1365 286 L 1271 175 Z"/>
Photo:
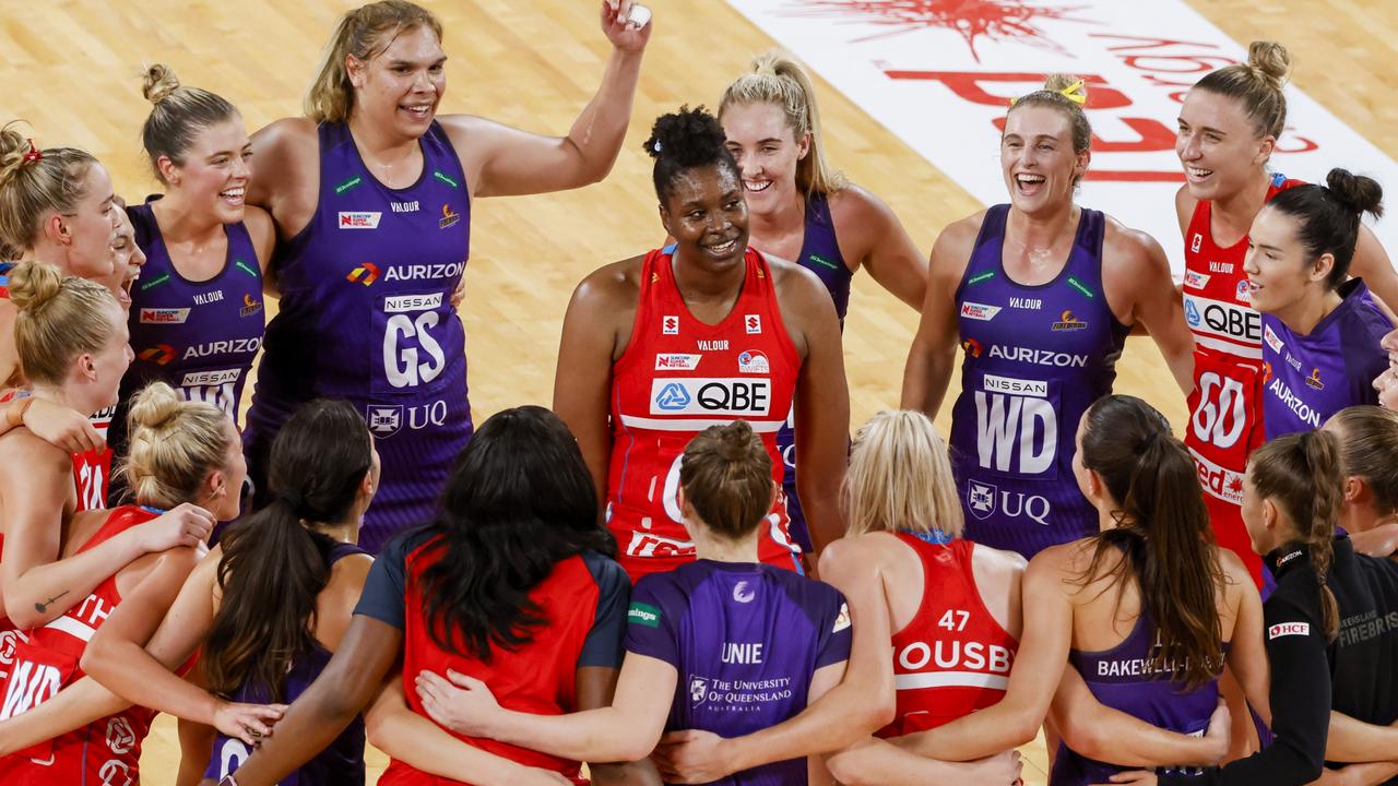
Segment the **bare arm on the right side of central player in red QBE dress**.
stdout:
<path fill-rule="evenodd" d="M 850 389 L 835 305 L 815 276 L 804 269 L 793 273 L 798 276 L 788 273 L 786 280 L 797 284 L 794 296 L 784 294 L 783 303 L 802 315 L 807 347 L 795 383 L 795 487 L 819 554 L 844 534 L 840 487 L 849 464 Z"/>

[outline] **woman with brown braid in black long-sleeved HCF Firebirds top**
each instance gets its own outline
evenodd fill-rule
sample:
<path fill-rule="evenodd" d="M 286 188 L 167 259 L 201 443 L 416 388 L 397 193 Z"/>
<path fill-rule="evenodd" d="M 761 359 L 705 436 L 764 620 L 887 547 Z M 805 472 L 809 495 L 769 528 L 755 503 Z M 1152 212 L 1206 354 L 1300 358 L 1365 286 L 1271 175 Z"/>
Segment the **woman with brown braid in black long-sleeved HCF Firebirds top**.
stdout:
<path fill-rule="evenodd" d="M 1398 571 L 1387 559 L 1355 554 L 1348 537 L 1335 537 L 1343 496 L 1339 459 L 1332 434 L 1307 431 L 1279 436 L 1248 460 L 1243 520 L 1276 575 L 1276 592 L 1264 608 L 1272 744 L 1202 775 L 1158 779 L 1138 772 L 1113 778 L 1114 783 L 1288 786 L 1320 778 L 1327 758 L 1392 755 L 1391 743 L 1356 747 L 1352 727 L 1359 726 L 1355 720 L 1378 726 L 1398 720 L 1398 629 L 1374 624 L 1398 613 Z M 1332 710 L 1348 717 L 1334 722 Z M 1374 731 L 1384 737 L 1390 730 Z"/>

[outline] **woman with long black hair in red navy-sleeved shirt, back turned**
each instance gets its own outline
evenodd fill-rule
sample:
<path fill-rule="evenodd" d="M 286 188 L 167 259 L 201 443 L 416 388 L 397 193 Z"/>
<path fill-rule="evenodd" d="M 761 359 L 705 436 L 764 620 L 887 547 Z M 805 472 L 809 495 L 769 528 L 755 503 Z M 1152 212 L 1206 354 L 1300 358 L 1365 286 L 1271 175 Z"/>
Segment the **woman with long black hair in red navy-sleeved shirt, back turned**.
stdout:
<path fill-rule="evenodd" d="M 452 467 L 435 522 L 384 548 L 334 657 L 224 782 L 280 782 L 369 705 L 396 664 L 403 671 L 393 674 L 393 698 L 403 705 L 408 696 L 411 710 L 393 713 L 380 702 L 379 722 L 370 719 L 370 738 L 393 751 L 379 783 L 466 772 L 482 783 L 558 783 L 549 772 L 576 782 L 576 761 L 443 731 L 412 684 L 422 670 L 463 673 L 484 678 L 512 706 L 570 712 L 610 703 L 630 594 L 608 557 L 614 548 L 562 421 L 541 407 L 492 415 Z M 594 761 L 590 771 L 608 779 L 649 771 L 642 782 L 654 782 L 644 764 Z"/>

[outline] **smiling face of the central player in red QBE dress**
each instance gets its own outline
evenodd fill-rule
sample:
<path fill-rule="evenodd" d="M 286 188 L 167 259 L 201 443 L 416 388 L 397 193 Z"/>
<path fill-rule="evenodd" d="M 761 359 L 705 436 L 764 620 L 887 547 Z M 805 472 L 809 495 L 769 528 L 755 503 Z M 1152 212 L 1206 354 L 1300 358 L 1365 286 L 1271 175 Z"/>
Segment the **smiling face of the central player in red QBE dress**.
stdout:
<path fill-rule="evenodd" d="M 742 182 L 727 164 L 692 166 L 670 180 L 660 221 L 679 256 L 712 264 L 741 264 L 748 248 L 748 206 Z"/>

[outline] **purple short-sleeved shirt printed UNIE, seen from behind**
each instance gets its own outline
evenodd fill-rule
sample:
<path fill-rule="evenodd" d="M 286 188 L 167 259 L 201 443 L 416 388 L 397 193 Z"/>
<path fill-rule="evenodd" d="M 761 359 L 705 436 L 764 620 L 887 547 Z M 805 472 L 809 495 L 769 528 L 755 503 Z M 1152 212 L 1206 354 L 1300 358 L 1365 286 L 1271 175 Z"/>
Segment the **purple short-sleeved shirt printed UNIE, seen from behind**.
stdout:
<path fill-rule="evenodd" d="M 678 673 L 665 731 L 738 737 L 794 717 L 811 676 L 850 656 L 835 587 L 773 565 L 699 559 L 644 576 L 626 614 L 626 652 Z M 804 758 L 735 772 L 721 785 L 795 786 Z"/>

